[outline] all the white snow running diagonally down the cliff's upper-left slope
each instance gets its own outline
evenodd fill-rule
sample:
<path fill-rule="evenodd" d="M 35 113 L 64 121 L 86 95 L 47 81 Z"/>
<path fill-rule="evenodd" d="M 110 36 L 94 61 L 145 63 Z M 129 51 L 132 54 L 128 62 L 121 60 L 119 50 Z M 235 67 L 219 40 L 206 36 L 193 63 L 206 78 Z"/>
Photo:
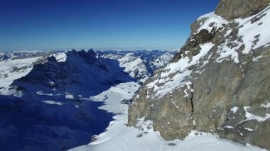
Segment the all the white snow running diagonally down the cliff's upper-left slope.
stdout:
<path fill-rule="evenodd" d="M 214 43 L 200 44 L 200 53 L 190 58 L 188 55 L 190 52 L 185 51 L 185 55 L 178 62 L 171 63 L 161 69 L 161 75 L 154 75 L 153 82 L 147 84 L 148 89 L 153 89 L 151 97 L 162 97 L 169 92 L 183 87 L 189 83 L 186 80 L 191 75 L 190 67 L 198 66 L 197 73 L 203 72 L 205 65 L 209 63 L 209 59 L 214 57 L 215 62 L 223 62 L 226 60 L 233 60 L 236 64 L 245 64 L 247 62 L 240 62 L 239 55 L 253 53 L 252 51 L 260 47 L 268 47 L 270 45 L 270 6 L 261 11 L 260 13 L 250 16 L 248 18 L 237 18 L 233 21 L 226 21 L 224 18 L 217 16 L 215 13 L 207 13 L 205 16 L 198 18 L 198 21 L 203 20 L 200 28 L 195 31 L 197 34 L 200 30 L 208 30 L 209 32 L 213 28 L 220 28 L 228 23 L 237 24 L 239 33 L 237 33 L 235 40 L 232 40 L 232 30 L 228 29 L 224 38 L 225 43 L 217 46 L 217 54 L 214 56 L 210 51 L 215 45 Z M 257 21 L 258 20 L 258 21 Z M 213 26 L 210 24 L 215 23 Z M 234 35 L 235 36 L 235 35 Z M 190 40 L 192 41 L 192 40 Z M 228 47 L 228 45 L 232 45 Z M 239 52 L 239 49 L 243 47 L 244 50 Z M 263 57 L 263 56 L 261 56 Z M 261 59 L 261 57 L 254 57 L 254 61 Z M 213 60 L 213 59 L 211 59 Z M 243 74 L 244 76 L 244 74 Z M 157 86 L 157 85 L 161 86 Z"/>

